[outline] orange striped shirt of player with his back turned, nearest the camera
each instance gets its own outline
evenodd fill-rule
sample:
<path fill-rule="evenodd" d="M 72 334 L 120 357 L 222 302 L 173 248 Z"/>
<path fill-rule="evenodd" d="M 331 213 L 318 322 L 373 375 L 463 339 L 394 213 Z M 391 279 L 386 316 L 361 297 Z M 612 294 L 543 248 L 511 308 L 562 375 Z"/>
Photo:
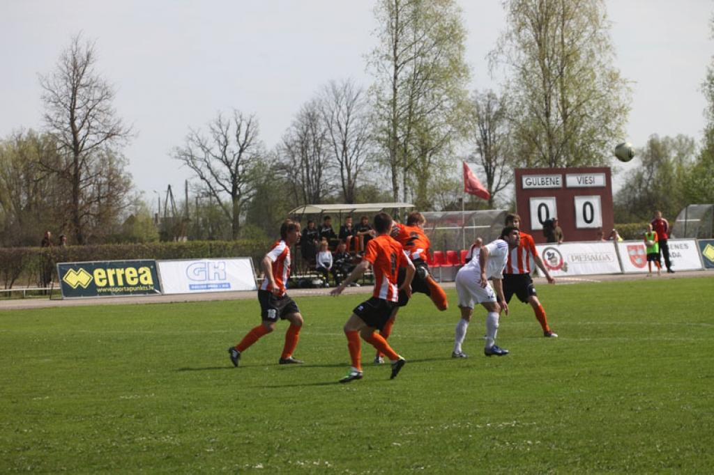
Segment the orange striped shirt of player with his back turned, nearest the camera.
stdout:
<path fill-rule="evenodd" d="M 373 297 L 397 302 L 399 300 L 398 270 L 399 267 L 409 265 L 402 245 L 391 236 L 377 236 L 368 242 L 364 258 L 371 263 L 374 270 Z"/>

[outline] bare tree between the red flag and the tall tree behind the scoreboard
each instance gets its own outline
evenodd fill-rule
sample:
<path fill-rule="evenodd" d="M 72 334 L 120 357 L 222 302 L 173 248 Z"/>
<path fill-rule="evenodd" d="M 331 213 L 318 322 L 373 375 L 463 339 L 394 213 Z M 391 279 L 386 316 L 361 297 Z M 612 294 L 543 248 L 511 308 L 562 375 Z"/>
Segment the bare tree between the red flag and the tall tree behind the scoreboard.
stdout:
<path fill-rule="evenodd" d="M 498 192 L 513 181 L 511 155 L 511 131 L 508 121 L 508 104 L 504 96 L 496 96 L 493 91 L 473 94 L 473 124 L 470 142 L 476 148 L 471 160 L 483 168 L 486 175 L 486 189 L 491 193 L 488 205 L 493 202 Z"/>

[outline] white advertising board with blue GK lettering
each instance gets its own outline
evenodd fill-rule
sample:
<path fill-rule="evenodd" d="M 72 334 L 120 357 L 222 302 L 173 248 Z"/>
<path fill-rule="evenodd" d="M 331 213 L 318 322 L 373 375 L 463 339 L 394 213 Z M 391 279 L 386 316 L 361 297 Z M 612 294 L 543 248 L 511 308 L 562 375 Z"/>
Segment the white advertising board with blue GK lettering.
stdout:
<path fill-rule="evenodd" d="M 256 290 L 250 257 L 201 260 L 159 260 L 164 294 Z"/>

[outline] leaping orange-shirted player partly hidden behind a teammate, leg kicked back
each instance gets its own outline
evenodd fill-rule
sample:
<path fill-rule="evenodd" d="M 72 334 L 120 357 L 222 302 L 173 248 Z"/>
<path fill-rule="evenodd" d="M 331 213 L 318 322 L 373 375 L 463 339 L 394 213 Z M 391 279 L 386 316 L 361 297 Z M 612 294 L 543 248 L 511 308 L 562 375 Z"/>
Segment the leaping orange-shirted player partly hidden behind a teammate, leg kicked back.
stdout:
<path fill-rule="evenodd" d="M 421 213 L 411 213 L 406 218 L 406 225 L 394 223 L 392 226 L 391 235 L 396 239 L 416 268 L 416 274 L 411 282 L 412 292 L 421 292 L 431 298 L 436 308 L 441 310 L 448 309 L 448 301 L 446 300 L 446 292 L 441 288 L 441 285 L 436 283 L 436 280 L 429 273 L 429 266 L 426 263 L 426 257 L 431 247 L 431 241 L 424 233 L 424 225 L 426 218 Z M 398 283 L 401 284 L 403 272 L 399 275 Z M 401 297 L 401 305 L 406 305 L 406 299 Z M 379 334 L 387 339 L 392 332 L 392 326 L 396 320 L 396 311 L 386 322 L 384 327 L 379 331 Z M 374 364 L 382 364 L 384 362 L 383 354 L 377 352 L 374 357 Z"/>

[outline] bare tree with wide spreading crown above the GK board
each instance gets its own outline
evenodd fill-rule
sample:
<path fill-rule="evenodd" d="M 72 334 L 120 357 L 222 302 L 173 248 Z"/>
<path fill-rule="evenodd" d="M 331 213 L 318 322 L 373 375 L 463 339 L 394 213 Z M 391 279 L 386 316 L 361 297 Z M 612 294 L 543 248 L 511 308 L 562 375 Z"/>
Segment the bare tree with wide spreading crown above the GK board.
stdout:
<path fill-rule="evenodd" d="M 174 149 L 174 158 L 196 173 L 201 188 L 216 200 L 231 222 L 233 239 L 241 230 L 243 208 L 253 196 L 256 173 L 264 155 L 258 138 L 258 121 L 233 111 L 233 118 L 221 113 L 208 123 L 208 135 L 191 130 L 186 144 Z"/>

